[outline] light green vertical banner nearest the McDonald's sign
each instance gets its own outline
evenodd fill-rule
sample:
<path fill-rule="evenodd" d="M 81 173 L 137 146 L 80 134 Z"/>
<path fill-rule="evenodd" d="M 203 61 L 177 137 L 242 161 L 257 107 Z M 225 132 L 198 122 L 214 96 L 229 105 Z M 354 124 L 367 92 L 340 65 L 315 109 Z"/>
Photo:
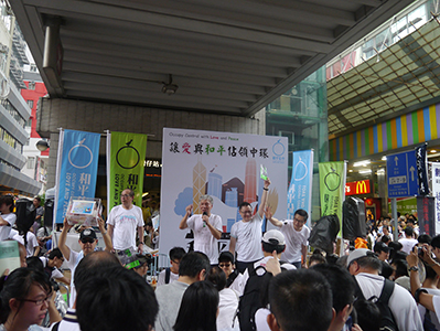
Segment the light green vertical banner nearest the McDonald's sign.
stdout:
<path fill-rule="evenodd" d="M 337 215 L 340 218 L 339 236 L 342 237 L 342 203 L 345 200 L 345 162 L 319 163 L 320 197 L 322 216 Z"/>

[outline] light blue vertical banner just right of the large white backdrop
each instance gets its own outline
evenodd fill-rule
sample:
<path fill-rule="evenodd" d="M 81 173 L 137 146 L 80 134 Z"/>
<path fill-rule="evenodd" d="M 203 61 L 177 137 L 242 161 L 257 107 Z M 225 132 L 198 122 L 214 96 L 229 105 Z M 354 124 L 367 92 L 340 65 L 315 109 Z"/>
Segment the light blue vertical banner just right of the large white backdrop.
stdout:
<path fill-rule="evenodd" d="M 294 212 L 299 209 L 309 214 L 308 225 L 311 222 L 313 179 L 313 150 L 293 152 L 292 178 L 287 193 L 287 217 L 293 220 Z"/>

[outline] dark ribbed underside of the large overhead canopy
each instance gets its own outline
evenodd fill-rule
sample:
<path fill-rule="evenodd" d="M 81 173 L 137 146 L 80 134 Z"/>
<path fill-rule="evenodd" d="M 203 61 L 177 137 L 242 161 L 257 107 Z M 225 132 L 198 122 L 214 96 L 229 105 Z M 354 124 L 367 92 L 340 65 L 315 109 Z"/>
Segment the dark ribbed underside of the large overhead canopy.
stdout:
<path fill-rule="evenodd" d="M 51 97 L 250 116 L 411 0 L 9 0 Z M 63 90 L 42 70 L 62 19 Z M 162 83 L 179 86 L 175 95 Z"/>

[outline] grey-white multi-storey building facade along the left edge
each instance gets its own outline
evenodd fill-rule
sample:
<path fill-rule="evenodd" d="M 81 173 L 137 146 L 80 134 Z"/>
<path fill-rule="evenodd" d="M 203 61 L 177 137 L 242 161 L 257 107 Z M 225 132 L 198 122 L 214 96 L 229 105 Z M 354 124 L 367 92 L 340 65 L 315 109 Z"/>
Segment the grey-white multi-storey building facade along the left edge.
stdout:
<path fill-rule="evenodd" d="M 6 1 L 0 1 L 0 194 L 32 196 L 40 192 L 41 184 L 21 172 L 26 163 L 25 124 L 31 116 L 31 108 L 20 95 L 25 87 L 25 43 Z"/>

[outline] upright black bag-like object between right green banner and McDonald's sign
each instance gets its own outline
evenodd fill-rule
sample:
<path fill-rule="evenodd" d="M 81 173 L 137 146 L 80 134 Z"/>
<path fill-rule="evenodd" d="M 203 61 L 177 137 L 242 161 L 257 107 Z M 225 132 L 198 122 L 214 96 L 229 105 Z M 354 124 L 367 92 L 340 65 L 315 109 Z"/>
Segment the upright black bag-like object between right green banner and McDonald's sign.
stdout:
<path fill-rule="evenodd" d="M 362 199 L 347 196 L 342 204 L 344 239 L 355 241 L 366 236 L 365 203 Z"/>

